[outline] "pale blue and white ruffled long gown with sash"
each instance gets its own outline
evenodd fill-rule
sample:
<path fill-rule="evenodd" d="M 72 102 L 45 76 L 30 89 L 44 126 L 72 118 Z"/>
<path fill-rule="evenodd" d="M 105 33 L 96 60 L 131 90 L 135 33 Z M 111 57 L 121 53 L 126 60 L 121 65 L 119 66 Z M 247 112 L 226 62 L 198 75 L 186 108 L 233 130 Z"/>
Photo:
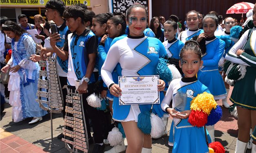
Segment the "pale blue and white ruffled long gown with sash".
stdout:
<path fill-rule="evenodd" d="M 23 33 L 18 40 L 17 45 L 12 40 L 12 59 L 13 66 L 21 66 L 18 70 L 20 76 L 20 101 L 22 105 L 22 117 L 41 117 L 47 114 L 36 102 L 36 92 L 39 77 L 39 65 L 33 62 L 29 57 L 36 53 L 36 44 L 31 36 Z"/>

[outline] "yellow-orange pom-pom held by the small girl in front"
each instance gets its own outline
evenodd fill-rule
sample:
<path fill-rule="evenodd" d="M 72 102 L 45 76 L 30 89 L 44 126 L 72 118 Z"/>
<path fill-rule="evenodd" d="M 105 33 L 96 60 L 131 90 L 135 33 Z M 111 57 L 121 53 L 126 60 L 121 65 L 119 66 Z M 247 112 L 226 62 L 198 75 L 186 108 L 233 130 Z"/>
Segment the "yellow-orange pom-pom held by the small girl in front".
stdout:
<path fill-rule="evenodd" d="M 198 94 L 193 100 L 190 102 L 190 109 L 194 111 L 203 111 L 205 114 L 209 115 L 211 109 L 215 109 L 217 106 L 216 101 L 214 100 L 214 96 L 207 92 L 203 94 Z"/>

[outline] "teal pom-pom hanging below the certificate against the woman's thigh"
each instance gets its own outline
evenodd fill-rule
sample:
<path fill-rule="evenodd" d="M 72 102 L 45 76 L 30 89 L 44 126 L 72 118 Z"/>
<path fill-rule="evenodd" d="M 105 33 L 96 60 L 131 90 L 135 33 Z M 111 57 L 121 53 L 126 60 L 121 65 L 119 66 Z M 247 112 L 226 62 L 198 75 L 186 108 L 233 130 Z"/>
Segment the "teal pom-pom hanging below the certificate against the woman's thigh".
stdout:
<path fill-rule="evenodd" d="M 149 111 L 141 112 L 138 115 L 137 126 L 144 134 L 151 133 L 151 122 L 150 122 L 150 112 Z"/>

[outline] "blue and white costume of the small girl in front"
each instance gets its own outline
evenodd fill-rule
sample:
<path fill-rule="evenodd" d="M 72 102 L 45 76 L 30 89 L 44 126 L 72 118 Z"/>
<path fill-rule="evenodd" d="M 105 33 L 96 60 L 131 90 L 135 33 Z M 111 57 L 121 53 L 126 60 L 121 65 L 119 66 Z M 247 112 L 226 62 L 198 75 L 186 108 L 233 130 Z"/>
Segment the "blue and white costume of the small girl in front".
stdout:
<path fill-rule="evenodd" d="M 180 78 L 171 81 L 161 107 L 165 109 L 169 107 L 172 100 L 172 107 L 177 111 L 190 110 L 190 102 L 198 94 L 208 92 L 209 90 L 196 77 Z M 183 101 L 179 103 L 177 100 L 183 94 Z M 186 101 L 184 103 L 184 101 Z M 205 132 L 203 127 L 193 127 L 187 119 L 173 120 L 174 130 L 170 130 L 169 145 L 173 143 L 172 153 L 207 153 L 209 152 L 206 144 Z M 209 143 L 211 139 L 207 133 Z"/>

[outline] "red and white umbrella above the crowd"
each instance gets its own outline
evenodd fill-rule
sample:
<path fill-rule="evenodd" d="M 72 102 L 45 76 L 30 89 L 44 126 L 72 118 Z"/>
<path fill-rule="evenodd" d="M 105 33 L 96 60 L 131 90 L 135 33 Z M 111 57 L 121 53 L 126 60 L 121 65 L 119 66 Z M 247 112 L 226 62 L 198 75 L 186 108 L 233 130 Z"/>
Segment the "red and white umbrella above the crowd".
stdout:
<path fill-rule="evenodd" d="M 254 4 L 249 2 L 240 2 L 234 4 L 232 7 L 230 7 L 226 14 L 241 14 L 241 13 L 247 13 L 250 9 L 254 8 Z M 242 15 L 243 16 L 243 15 Z"/>

